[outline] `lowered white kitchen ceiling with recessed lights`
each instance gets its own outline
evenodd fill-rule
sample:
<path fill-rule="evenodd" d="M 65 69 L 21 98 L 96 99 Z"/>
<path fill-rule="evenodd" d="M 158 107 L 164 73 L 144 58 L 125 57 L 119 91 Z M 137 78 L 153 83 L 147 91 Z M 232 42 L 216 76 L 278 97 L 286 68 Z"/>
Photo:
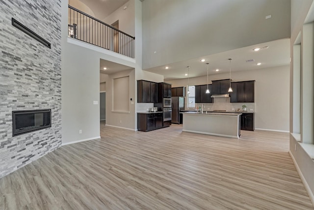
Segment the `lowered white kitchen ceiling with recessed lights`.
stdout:
<path fill-rule="evenodd" d="M 257 47 L 268 47 L 258 52 L 253 51 Z M 255 69 L 263 69 L 275 66 L 289 65 L 290 62 L 290 41 L 289 39 L 280 39 L 263 44 L 253 45 L 249 47 L 239 48 L 231 51 L 217 53 L 213 55 L 203 56 L 190 60 L 183 60 L 176 63 L 169 63 L 154 68 L 145 69 L 164 76 L 164 79 L 182 79 L 187 78 L 185 74 L 190 66 L 189 76 L 198 77 L 207 75 L 207 62 L 209 63 L 209 74 L 220 74 L 229 72 L 229 58 L 231 61 L 231 71 L 247 71 Z M 204 62 L 201 62 L 205 59 Z M 254 62 L 246 62 L 246 60 L 254 60 Z M 261 62 L 261 65 L 257 63 Z M 168 69 L 165 67 L 168 66 Z M 219 69 L 219 71 L 215 71 Z"/>

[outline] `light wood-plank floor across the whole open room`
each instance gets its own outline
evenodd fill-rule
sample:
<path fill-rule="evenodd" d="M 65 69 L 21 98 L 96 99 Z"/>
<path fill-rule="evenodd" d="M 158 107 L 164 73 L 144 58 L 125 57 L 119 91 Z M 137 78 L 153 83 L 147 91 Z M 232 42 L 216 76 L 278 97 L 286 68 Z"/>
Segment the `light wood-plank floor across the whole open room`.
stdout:
<path fill-rule="evenodd" d="M 106 127 L 0 179 L 0 210 L 313 210 L 288 134 Z"/>

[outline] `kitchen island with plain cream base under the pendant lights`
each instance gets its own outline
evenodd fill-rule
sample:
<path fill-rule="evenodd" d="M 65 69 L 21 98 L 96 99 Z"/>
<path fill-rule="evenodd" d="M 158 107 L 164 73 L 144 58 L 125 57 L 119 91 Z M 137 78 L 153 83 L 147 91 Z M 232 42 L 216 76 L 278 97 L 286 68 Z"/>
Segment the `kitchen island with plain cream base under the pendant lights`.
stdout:
<path fill-rule="evenodd" d="M 239 138 L 240 115 L 225 112 L 184 112 L 183 131 Z"/>

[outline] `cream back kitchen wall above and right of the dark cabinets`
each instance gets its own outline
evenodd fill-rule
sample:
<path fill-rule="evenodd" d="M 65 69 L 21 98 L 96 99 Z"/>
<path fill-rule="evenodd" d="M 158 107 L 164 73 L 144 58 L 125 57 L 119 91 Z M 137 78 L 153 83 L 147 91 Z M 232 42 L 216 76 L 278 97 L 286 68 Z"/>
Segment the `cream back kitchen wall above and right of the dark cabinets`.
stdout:
<path fill-rule="evenodd" d="M 209 76 L 211 80 L 229 79 L 229 74 Z M 289 66 L 232 72 L 233 82 L 255 80 L 255 128 L 289 130 Z M 172 87 L 187 85 L 187 79 L 169 80 Z M 207 77 L 190 78 L 190 85 L 206 85 Z"/>

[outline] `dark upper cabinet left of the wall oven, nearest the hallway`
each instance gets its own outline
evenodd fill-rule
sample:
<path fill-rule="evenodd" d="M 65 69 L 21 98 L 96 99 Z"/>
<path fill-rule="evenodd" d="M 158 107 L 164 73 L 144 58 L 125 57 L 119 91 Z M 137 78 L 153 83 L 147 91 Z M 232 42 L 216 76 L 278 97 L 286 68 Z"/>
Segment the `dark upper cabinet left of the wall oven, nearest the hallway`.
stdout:
<path fill-rule="evenodd" d="M 137 80 L 137 103 L 157 103 L 157 83 Z"/>

